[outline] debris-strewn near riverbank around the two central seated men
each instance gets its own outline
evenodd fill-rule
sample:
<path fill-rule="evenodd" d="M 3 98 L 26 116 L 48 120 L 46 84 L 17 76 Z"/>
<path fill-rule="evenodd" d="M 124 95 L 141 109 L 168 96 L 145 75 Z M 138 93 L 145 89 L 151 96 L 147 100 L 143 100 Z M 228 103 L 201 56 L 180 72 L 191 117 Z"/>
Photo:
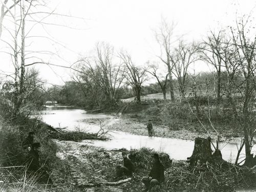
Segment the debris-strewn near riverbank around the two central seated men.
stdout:
<path fill-rule="evenodd" d="M 155 153 L 148 148 L 140 150 L 110 150 L 85 145 L 72 141 L 57 141 L 59 152 L 57 156 L 66 160 L 70 169 L 70 179 L 75 191 L 142 191 L 141 178 L 147 176 L 152 166 L 151 155 Z M 95 183 L 116 182 L 127 177 L 116 179 L 116 166 L 121 165 L 121 152 L 126 151 L 136 169 L 132 180 L 121 185 L 106 186 Z M 166 154 L 160 153 L 160 160 L 165 167 L 165 181 L 160 186 L 153 188 L 152 192 L 164 191 L 237 191 L 236 188 L 252 187 L 251 178 L 244 182 L 247 169 L 236 167 L 230 163 L 221 162 L 222 166 L 216 164 L 200 165 L 189 168 L 186 161 L 168 161 Z M 225 165 L 225 166 L 224 166 Z M 219 168 L 218 168 L 219 167 Z M 242 177 L 244 177 L 242 179 Z M 244 190 L 245 191 L 245 190 Z"/>

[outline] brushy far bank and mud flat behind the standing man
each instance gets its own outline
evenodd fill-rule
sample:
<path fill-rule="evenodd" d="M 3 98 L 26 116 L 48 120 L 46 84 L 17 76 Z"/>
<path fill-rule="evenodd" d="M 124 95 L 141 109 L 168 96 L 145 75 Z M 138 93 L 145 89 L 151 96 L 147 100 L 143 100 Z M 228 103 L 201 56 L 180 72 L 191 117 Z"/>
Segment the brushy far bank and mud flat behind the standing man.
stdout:
<path fill-rule="evenodd" d="M 125 131 L 128 133 L 146 135 L 146 124 L 148 119 L 153 121 L 153 127 L 156 136 L 159 137 L 174 137 L 184 139 L 194 139 L 195 137 L 207 137 L 207 132 L 212 138 L 217 136 L 206 115 L 208 108 L 205 105 L 205 98 L 200 99 L 200 114 L 198 118 L 203 123 L 206 130 L 202 127 L 197 117 L 189 110 L 186 102 L 163 103 L 162 100 L 151 99 L 145 100 L 146 105 L 137 105 L 132 102 L 127 106 L 120 122 L 113 125 L 112 129 L 117 131 Z M 211 101 L 213 102 L 213 101 Z M 223 103 L 222 103 L 223 104 Z M 196 113 L 193 105 L 191 107 Z M 224 107 L 224 106 L 223 106 Z M 241 127 L 232 112 L 226 108 L 220 108 L 219 114 L 216 113 L 214 106 L 210 108 L 211 122 L 215 129 L 223 137 L 222 140 L 230 137 L 239 137 Z M 191 135 L 191 137 L 189 136 Z"/>

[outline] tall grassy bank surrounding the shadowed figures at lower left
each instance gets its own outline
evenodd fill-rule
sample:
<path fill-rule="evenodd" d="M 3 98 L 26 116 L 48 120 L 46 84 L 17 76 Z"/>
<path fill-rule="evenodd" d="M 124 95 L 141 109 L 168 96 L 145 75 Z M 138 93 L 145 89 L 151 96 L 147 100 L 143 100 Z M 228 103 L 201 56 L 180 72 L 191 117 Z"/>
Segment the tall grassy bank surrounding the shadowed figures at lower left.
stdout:
<path fill-rule="evenodd" d="M 28 152 L 22 147 L 22 142 L 29 131 L 35 131 L 35 142 L 40 142 L 40 163 L 50 174 L 56 186 L 39 184 L 36 176 L 28 177 L 24 168 L 1 168 L 0 191 L 72 191 L 73 178 L 70 178 L 70 165 L 66 160 L 56 157 L 58 147 L 49 136 L 49 130 L 44 123 L 37 119 L 0 123 L 0 166 L 26 165 Z"/>

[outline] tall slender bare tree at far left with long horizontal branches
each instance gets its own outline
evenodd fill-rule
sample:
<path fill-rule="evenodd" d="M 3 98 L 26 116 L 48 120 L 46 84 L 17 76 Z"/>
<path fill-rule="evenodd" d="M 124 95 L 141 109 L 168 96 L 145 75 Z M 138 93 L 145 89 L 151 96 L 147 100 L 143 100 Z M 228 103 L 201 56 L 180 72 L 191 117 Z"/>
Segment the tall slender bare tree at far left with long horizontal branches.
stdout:
<path fill-rule="evenodd" d="M 44 22 L 44 20 L 49 16 L 54 14 L 58 15 L 54 13 L 55 10 L 39 11 L 38 7 L 46 8 L 44 0 L 5 0 L 4 2 L 2 1 L 1 5 L 0 40 L 3 41 L 7 46 L 4 48 L 4 51 L 1 52 L 10 55 L 14 66 L 14 73 L 12 75 L 9 75 L 9 77 L 13 78 L 14 81 L 14 116 L 19 113 L 19 109 L 23 107 L 23 101 L 25 100 L 25 78 L 27 74 L 26 68 L 36 63 L 44 63 L 46 65 L 49 65 L 49 62 L 45 62 L 43 59 L 41 59 L 41 56 L 39 56 L 40 54 L 48 54 L 51 56 L 57 55 L 56 53 L 53 53 L 49 50 L 29 50 L 31 41 L 28 41 L 28 39 L 47 38 L 48 40 L 55 42 L 55 44 L 60 45 L 59 42 L 56 42 L 53 38 L 47 36 L 29 36 L 30 32 L 36 25 L 41 25 L 43 29 L 45 29 L 44 27 L 46 25 L 57 25 Z M 42 8 L 41 10 L 45 10 L 44 8 Z M 8 22 L 7 25 L 4 24 L 4 20 Z M 9 35 L 10 38 L 1 38 L 2 32 L 4 32 L 3 29 L 5 32 L 7 32 L 7 35 Z M 42 90 L 44 89 L 42 88 Z"/>

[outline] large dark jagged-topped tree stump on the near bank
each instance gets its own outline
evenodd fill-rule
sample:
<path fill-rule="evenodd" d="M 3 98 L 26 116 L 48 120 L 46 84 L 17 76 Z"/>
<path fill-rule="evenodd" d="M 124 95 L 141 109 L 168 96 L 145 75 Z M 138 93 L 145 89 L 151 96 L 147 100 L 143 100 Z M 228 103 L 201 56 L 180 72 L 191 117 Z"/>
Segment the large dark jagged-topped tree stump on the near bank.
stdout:
<path fill-rule="evenodd" d="M 207 139 L 197 137 L 191 157 L 188 157 L 190 166 L 196 166 L 198 162 L 206 163 L 211 158 L 210 137 Z"/>

